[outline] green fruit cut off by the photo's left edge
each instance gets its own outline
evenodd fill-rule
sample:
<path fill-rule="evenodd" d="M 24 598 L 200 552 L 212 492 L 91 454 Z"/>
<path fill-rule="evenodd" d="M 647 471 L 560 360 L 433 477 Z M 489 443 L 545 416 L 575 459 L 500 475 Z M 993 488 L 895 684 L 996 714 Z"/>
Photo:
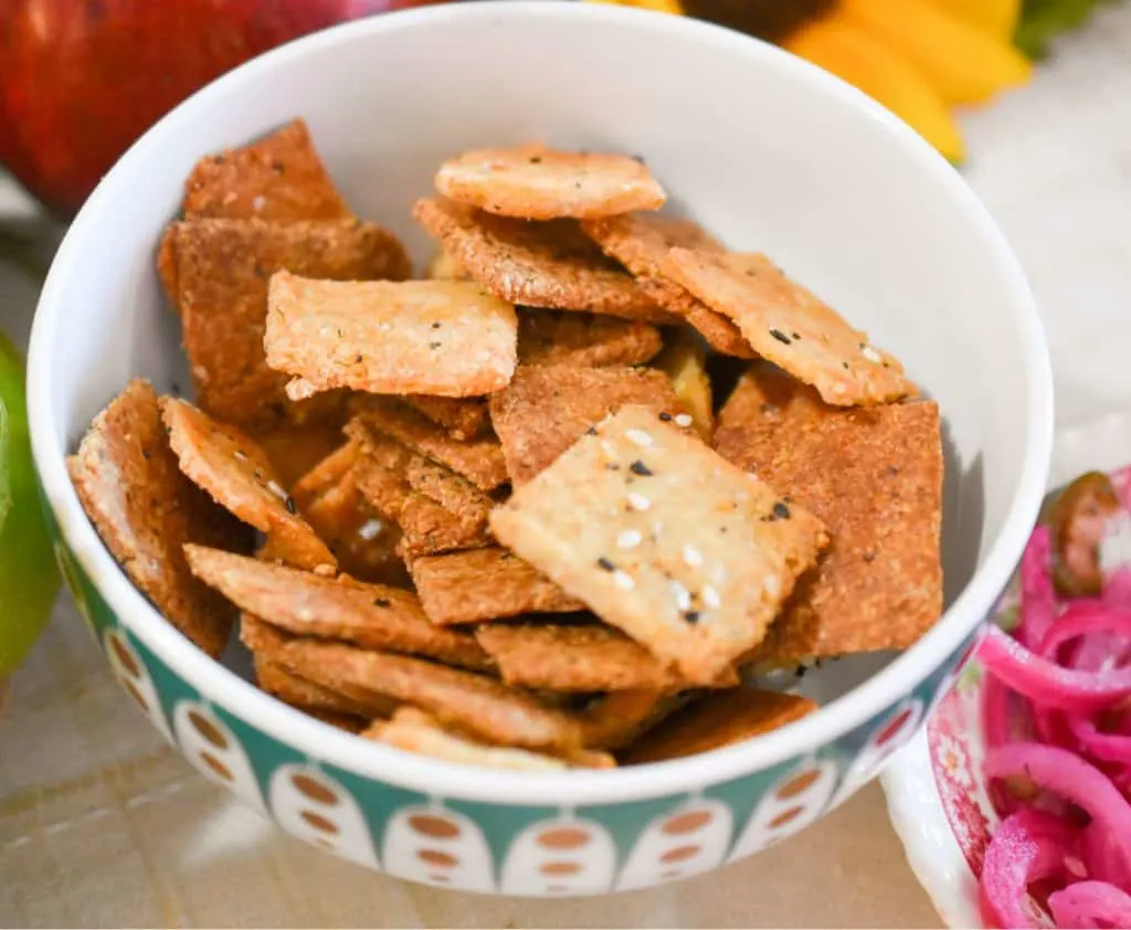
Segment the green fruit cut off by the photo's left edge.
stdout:
<path fill-rule="evenodd" d="M 0 334 L 0 679 L 43 631 L 58 591 L 27 434 L 24 360 Z"/>

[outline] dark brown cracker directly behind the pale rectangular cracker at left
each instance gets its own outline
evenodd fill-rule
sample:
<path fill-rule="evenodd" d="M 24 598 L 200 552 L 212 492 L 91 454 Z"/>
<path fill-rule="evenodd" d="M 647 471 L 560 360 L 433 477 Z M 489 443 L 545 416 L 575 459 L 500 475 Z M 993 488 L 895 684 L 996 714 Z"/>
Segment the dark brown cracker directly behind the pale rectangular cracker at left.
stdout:
<path fill-rule="evenodd" d="M 396 236 L 353 219 L 195 219 L 172 229 L 176 303 L 197 397 L 201 408 L 236 425 L 269 422 L 291 407 L 287 378 L 268 368 L 264 353 L 267 287 L 275 272 L 399 281 L 411 270 Z"/>

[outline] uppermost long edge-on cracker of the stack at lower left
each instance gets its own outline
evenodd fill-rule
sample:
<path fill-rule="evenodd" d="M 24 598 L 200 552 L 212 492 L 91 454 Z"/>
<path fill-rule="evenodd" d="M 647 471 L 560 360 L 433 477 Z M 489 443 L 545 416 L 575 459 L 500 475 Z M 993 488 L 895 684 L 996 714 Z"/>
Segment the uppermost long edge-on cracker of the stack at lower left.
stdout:
<path fill-rule="evenodd" d="M 189 545 L 192 572 L 242 611 L 296 636 L 424 655 L 469 669 L 492 664 L 470 634 L 429 622 L 415 595 L 348 577 L 321 578 L 217 549 Z"/>

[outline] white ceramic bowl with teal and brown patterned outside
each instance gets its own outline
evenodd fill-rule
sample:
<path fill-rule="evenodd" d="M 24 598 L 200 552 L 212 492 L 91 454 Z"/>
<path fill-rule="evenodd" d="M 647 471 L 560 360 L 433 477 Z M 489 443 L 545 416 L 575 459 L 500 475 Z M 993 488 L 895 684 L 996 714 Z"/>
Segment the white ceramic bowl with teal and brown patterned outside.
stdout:
<path fill-rule="evenodd" d="M 674 208 L 733 247 L 766 250 L 824 295 L 942 406 L 948 610 L 938 626 L 904 655 L 806 677 L 823 709 L 759 740 L 546 775 L 363 742 L 259 692 L 238 658 L 224 668 L 190 647 L 102 546 L 64 455 L 129 378 L 189 382 L 154 273 L 157 238 L 200 155 L 295 115 L 360 215 L 403 234 L 417 260 L 430 246 L 409 205 L 444 156 L 543 139 L 646 156 Z M 153 723 L 299 836 L 405 878 L 524 895 L 638 888 L 718 867 L 872 777 L 917 730 L 1021 551 L 1048 465 L 1050 384 L 1009 248 L 906 126 L 737 33 L 563 2 L 443 6 L 338 27 L 178 107 L 75 221 L 43 291 L 28 373 L 61 561 Z"/>

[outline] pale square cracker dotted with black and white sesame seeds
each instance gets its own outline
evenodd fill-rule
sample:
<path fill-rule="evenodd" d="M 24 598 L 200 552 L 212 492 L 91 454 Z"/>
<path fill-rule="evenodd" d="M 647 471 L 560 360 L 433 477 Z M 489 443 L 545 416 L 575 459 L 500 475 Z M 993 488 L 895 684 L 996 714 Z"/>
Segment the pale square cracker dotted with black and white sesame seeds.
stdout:
<path fill-rule="evenodd" d="M 761 641 L 827 542 L 817 517 L 645 407 L 579 439 L 491 528 L 698 684 Z"/>

